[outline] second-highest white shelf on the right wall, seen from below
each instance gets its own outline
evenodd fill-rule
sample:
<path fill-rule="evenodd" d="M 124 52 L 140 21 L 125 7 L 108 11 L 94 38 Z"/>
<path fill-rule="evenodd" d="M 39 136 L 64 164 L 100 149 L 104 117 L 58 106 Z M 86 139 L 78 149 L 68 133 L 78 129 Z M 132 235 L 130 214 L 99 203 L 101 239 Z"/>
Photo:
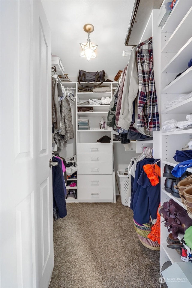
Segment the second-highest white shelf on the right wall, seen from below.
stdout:
<path fill-rule="evenodd" d="M 162 48 L 162 53 L 177 53 L 192 35 L 192 7 Z M 188 27 L 186 30 L 185 27 Z M 179 41 L 178 41 L 179 39 Z"/>

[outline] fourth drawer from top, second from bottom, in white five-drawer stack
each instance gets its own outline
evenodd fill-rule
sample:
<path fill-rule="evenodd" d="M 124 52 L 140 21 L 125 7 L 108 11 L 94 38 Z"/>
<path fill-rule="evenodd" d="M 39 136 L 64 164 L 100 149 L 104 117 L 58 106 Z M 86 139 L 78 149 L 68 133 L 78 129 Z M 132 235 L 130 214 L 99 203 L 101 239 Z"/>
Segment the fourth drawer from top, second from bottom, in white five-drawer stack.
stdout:
<path fill-rule="evenodd" d="M 113 175 L 78 175 L 79 187 L 113 187 Z"/>

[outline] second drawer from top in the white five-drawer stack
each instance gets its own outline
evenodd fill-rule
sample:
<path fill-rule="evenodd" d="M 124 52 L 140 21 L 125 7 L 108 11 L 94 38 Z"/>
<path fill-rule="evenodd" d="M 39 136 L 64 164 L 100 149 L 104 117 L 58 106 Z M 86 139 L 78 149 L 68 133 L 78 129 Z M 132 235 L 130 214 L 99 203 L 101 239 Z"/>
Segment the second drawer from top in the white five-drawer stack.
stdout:
<path fill-rule="evenodd" d="M 112 153 L 77 153 L 77 162 L 112 162 Z"/>

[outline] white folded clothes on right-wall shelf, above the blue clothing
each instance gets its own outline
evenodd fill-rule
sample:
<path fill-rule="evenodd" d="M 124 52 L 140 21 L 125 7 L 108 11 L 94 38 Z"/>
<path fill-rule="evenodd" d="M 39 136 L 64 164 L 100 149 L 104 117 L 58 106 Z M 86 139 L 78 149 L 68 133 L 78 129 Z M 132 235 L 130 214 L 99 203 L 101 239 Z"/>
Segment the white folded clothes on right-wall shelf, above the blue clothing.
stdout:
<path fill-rule="evenodd" d="M 167 120 L 162 123 L 162 129 L 166 132 L 178 131 L 192 127 L 192 114 L 185 117 L 187 121 L 176 121 L 175 119 Z"/>

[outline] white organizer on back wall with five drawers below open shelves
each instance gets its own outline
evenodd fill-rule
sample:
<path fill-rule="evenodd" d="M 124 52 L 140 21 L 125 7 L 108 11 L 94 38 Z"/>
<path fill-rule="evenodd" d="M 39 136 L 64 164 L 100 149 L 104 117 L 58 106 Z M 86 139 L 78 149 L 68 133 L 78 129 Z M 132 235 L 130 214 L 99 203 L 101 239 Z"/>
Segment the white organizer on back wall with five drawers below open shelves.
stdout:
<path fill-rule="evenodd" d="M 110 92 L 78 92 L 78 82 L 65 82 L 65 89 L 73 88 L 76 95 L 76 155 L 77 155 L 77 199 L 68 198 L 67 202 L 115 202 L 114 174 L 113 174 L 113 137 L 112 129 L 100 129 L 99 122 L 107 114 L 107 105 L 77 105 L 80 101 L 110 97 L 118 82 L 103 82 L 101 86 L 110 87 Z M 95 84 L 82 83 L 85 86 Z M 93 107 L 93 112 L 78 112 L 78 107 Z M 78 119 L 88 119 L 90 130 L 79 130 Z M 73 125 L 74 126 L 74 125 Z M 104 135 L 111 139 L 111 143 L 97 143 Z M 73 189 L 74 187 L 70 187 Z"/>

